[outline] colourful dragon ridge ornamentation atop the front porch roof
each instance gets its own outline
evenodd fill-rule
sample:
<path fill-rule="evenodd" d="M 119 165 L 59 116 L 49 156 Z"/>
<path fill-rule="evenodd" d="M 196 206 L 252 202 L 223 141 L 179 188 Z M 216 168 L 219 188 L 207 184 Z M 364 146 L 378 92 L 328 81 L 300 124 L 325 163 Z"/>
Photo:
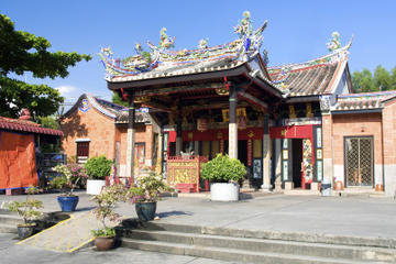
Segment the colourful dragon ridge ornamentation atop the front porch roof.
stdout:
<path fill-rule="evenodd" d="M 239 38 L 233 42 L 208 46 L 208 38 L 199 41 L 197 50 L 169 51 L 175 45 L 175 37 L 166 34 L 166 28 L 160 32 L 160 43 L 154 45 L 147 42 L 150 52 L 144 51 L 140 43 L 135 44 L 136 55 L 124 59 L 114 58 L 110 47 L 101 48 L 98 54 L 106 68 L 106 78 L 121 76 L 135 76 L 148 73 L 155 68 L 166 68 L 177 65 L 188 65 L 204 62 L 228 59 L 230 62 L 248 62 L 257 53 L 263 43 L 262 33 L 267 25 L 267 21 L 257 30 L 253 31 L 250 20 L 250 12 L 243 12 L 243 19 L 234 26 L 234 32 Z"/>

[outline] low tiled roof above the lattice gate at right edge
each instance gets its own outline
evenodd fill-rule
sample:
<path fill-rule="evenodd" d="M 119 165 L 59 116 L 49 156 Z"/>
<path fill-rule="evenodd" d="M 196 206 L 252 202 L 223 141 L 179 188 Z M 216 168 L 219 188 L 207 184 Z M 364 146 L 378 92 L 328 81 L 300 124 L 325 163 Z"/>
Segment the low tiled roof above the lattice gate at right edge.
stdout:
<path fill-rule="evenodd" d="M 396 98 L 396 91 L 362 92 L 340 95 L 331 111 L 354 111 L 384 108 L 386 100 Z"/>

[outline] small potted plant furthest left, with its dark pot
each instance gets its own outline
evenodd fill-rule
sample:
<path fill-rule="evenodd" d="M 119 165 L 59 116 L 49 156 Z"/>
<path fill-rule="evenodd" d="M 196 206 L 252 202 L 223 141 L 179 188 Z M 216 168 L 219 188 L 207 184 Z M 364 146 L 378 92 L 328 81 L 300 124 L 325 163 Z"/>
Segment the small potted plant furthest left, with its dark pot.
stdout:
<path fill-rule="evenodd" d="M 33 220 L 40 218 L 43 213 L 35 209 L 43 208 L 43 202 L 37 199 L 29 198 L 29 195 L 37 194 L 38 190 L 35 187 L 26 188 L 26 200 L 25 201 L 12 201 L 8 205 L 11 211 L 18 212 L 23 218 L 23 223 L 16 226 L 18 237 L 20 239 L 26 239 L 32 235 L 36 223 Z"/>

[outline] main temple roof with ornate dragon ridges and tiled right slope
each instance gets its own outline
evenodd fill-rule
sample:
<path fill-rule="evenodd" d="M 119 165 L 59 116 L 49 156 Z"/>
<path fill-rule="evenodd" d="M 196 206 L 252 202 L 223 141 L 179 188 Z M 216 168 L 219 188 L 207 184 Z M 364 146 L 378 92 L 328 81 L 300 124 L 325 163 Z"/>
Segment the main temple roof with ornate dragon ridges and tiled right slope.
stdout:
<path fill-rule="evenodd" d="M 183 82 L 187 76 L 188 80 L 196 80 L 243 75 L 249 76 L 250 81 L 263 81 L 261 86 L 271 87 L 268 90 L 285 98 L 350 92 L 348 51 L 353 36 L 342 47 L 340 34 L 333 32 L 327 44 L 330 54 L 304 63 L 266 67 L 260 47 L 267 22 L 253 32 L 250 13 L 246 11 L 243 16 L 234 28 L 239 38 L 223 45 L 209 47 L 208 40 L 201 40 L 197 50 L 168 51 L 174 46 L 175 37 L 167 36 L 164 28 L 157 46 L 147 43 L 151 52 L 144 52 L 141 44 L 136 44 L 136 55 L 116 59 L 109 47 L 102 48 L 99 56 L 106 67 L 109 88 L 123 94 L 124 88 Z M 344 73 L 348 84 L 342 82 Z"/>

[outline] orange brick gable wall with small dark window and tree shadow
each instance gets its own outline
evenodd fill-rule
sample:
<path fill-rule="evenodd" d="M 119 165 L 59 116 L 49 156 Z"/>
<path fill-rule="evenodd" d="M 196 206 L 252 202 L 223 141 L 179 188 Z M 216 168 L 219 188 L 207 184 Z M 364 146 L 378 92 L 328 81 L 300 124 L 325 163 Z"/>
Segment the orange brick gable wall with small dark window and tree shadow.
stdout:
<path fill-rule="evenodd" d="M 61 123 L 64 132 L 62 146 L 67 156 L 75 156 L 77 139 L 90 139 L 89 156 L 106 155 L 114 158 L 116 129 L 113 119 L 100 113 L 95 108 L 87 112 L 76 109 Z"/>

